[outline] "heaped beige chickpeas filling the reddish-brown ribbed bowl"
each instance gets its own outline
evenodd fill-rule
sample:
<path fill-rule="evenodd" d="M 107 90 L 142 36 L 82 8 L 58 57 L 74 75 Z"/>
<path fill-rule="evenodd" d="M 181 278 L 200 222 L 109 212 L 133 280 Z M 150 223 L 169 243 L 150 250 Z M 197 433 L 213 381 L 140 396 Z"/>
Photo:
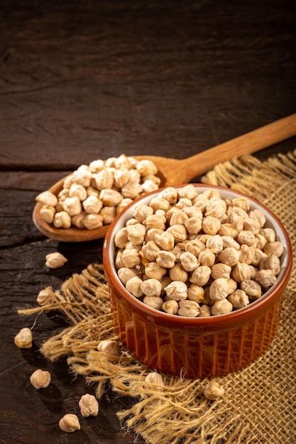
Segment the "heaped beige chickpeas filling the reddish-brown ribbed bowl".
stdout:
<path fill-rule="evenodd" d="M 166 313 L 203 317 L 248 306 L 277 280 L 283 244 L 246 198 L 167 187 L 115 235 L 128 292 Z"/>

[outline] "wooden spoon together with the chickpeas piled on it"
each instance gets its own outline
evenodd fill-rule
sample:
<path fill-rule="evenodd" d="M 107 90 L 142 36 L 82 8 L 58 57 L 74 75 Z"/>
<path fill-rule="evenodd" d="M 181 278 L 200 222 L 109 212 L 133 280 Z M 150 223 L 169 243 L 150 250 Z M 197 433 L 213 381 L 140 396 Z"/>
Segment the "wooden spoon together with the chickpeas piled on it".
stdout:
<path fill-rule="evenodd" d="M 296 113 L 182 160 L 150 155 L 94 160 L 37 196 L 33 222 L 61 242 L 104 238 L 116 214 L 141 194 L 185 184 L 219 163 L 294 135 Z"/>

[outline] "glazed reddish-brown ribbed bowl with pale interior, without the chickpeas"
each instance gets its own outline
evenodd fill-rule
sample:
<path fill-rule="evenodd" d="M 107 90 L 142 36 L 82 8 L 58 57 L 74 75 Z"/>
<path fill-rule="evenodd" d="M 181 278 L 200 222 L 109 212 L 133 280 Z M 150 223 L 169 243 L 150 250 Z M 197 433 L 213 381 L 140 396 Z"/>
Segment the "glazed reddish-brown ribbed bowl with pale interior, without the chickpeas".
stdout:
<path fill-rule="evenodd" d="M 194 187 L 198 192 L 219 189 L 222 199 L 246 196 L 223 187 L 204 184 L 194 184 Z M 280 274 L 273 287 L 243 309 L 223 315 L 189 318 L 152 309 L 129 293 L 119 280 L 114 266 L 114 236 L 132 218 L 134 207 L 140 202 L 148 204 L 158 192 L 146 194 L 126 207 L 106 233 L 103 258 L 116 333 L 138 360 L 159 372 L 182 374 L 187 378 L 235 372 L 256 360 L 275 337 L 284 290 L 292 270 L 289 236 L 272 211 L 247 196 L 252 209 L 263 211 L 265 226 L 274 229 L 277 240 L 285 248 L 280 258 Z"/>

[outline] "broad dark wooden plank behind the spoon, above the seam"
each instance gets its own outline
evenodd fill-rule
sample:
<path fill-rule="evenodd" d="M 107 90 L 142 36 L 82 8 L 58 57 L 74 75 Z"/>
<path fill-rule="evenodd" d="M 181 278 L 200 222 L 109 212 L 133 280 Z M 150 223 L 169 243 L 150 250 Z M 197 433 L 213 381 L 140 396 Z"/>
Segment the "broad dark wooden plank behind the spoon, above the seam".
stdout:
<path fill-rule="evenodd" d="M 72 170 L 109 152 L 189 157 L 295 112 L 292 6 L 7 7 L 1 167 Z"/>

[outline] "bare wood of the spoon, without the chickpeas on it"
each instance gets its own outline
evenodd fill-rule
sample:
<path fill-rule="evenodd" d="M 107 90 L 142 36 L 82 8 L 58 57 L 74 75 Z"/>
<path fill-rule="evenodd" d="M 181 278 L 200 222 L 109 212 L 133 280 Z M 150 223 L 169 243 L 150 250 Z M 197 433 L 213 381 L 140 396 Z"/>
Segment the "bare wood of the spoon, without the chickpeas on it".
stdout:
<path fill-rule="evenodd" d="M 185 184 L 201 174 L 211 170 L 215 165 L 231 160 L 234 157 L 251 154 L 270 145 L 279 143 L 296 135 L 296 113 L 278 121 L 269 123 L 250 133 L 246 133 L 228 142 L 216 145 L 214 148 L 199 152 L 187 159 L 177 160 L 168 157 L 150 155 L 133 156 L 138 160 L 150 159 L 158 167 L 158 176 L 161 179 L 160 187 Z M 64 179 L 50 187 L 49 191 L 58 194 L 62 189 Z M 43 221 L 40 216 L 40 206 L 35 205 L 33 210 L 33 222 L 40 233 L 48 238 L 62 242 L 82 242 L 104 238 L 109 225 L 96 230 L 82 228 L 55 228 Z"/>

